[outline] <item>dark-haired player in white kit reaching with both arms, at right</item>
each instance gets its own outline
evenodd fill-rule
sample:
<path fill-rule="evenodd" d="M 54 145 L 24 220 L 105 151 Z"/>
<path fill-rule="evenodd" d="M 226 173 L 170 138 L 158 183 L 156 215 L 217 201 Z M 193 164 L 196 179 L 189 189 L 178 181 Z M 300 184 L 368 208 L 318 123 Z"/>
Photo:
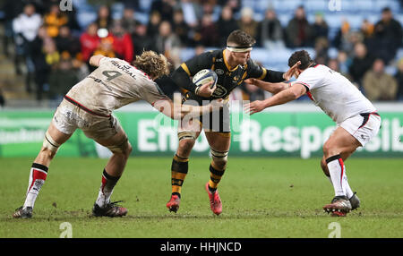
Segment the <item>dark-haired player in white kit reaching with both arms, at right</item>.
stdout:
<path fill-rule="evenodd" d="M 381 116 L 373 104 L 340 73 L 322 64 L 314 64 L 309 54 L 297 51 L 288 65 L 300 62 L 290 83 L 250 82 L 274 95 L 244 106 L 251 115 L 266 107 L 285 104 L 307 94 L 314 104 L 336 122 L 337 128 L 323 145 L 322 170 L 330 178 L 335 196 L 323 209 L 333 216 L 346 216 L 360 201 L 347 182 L 344 162 L 358 147 L 370 141 L 380 130 Z"/>

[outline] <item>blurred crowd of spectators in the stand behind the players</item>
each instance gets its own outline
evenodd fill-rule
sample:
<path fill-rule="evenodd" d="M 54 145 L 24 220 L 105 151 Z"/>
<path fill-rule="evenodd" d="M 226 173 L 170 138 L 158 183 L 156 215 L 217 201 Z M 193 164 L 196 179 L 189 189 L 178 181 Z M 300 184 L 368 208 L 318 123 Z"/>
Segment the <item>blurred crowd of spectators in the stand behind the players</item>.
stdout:
<path fill-rule="evenodd" d="M 330 39 L 323 13 L 315 13 L 310 23 L 304 6 L 299 6 L 283 27 L 274 9 L 266 10 L 262 21 L 255 21 L 253 9 L 241 8 L 241 1 L 154 0 L 148 23 L 135 17 L 139 0 L 92 1 L 97 18 L 86 28 L 79 26 L 75 6 L 71 12 L 62 12 L 56 0 L 7 1 L 3 6 L 4 55 L 13 58 L 15 73 L 24 75 L 28 92 L 38 100 L 58 99 L 92 71 L 91 55 L 132 62 L 142 50 L 154 50 L 166 55 L 176 68 L 184 61 L 182 48 L 193 47 L 200 54 L 207 47 L 225 47 L 229 33 L 240 29 L 256 38 L 255 47 L 312 47 L 317 64 L 347 75 L 370 100 L 403 100 L 403 59 L 396 61 L 402 27 L 389 8 L 380 10 L 375 23 L 364 20 L 359 30 L 343 21 L 336 37 Z M 114 2 L 124 4 L 118 20 L 112 18 L 110 4 Z M 214 19 L 217 7 L 219 18 Z M 13 53 L 9 45 L 14 46 Z M 338 49 L 337 57 L 330 57 L 330 47 Z M 389 65 L 397 67 L 395 74 L 385 72 Z M 243 84 L 240 89 L 238 98 L 264 97 L 253 86 Z"/>

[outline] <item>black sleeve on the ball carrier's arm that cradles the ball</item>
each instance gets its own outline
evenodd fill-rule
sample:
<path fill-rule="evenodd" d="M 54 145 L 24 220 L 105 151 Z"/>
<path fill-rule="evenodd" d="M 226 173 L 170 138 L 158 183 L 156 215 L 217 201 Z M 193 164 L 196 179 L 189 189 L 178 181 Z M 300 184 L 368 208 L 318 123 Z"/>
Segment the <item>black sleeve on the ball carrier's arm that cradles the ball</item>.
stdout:
<path fill-rule="evenodd" d="M 210 52 L 194 56 L 192 59 L 181 64 L 172 73 L 172 80 L 176 85 L 185 89 L 194 91 L 196 85 L 192 82 L 191 77 L 201 71 L 202 69 L 210 69 L 212 65 L 212 55 Z"/>

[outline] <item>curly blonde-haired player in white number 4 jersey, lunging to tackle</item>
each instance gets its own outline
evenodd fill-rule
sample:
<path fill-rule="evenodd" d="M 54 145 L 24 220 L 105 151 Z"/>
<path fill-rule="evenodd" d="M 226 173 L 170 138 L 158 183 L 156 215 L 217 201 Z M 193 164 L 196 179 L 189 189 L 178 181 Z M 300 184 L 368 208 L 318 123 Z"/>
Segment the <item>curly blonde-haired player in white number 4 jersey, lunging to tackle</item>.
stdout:
<path fill-rule="evenodd" d="M 110 201 L 113 189 L 123 174 L 132 151 L 127 135 L 112 111 L 129 103 L 144 99 L 161 113 L 175 119 L 184 115 L 201 115 L 210 107 L 184 108 L 173 102 L 154 82 L 168 73 L 167 58 L 152 51 L 137 55 L 133 65 L 103 55 L 93 55 L 90 64 L 98 67 L 64 96 L 45 134 L 43 146 L 30 168 L 30 181 L 26 200 L 16 209 L 13 218 L 31 218 L 39 190 L 47 179 L 47 170 L 57 149 L 76 129 L 107 147 L 113 153 L 102 174 L 98 199 L 94 203 L 94 216 L 122 217 L 127 209 Z M 63 79 L 61 77 L 60 79 Z M 215 88 L 206 89 L 212 93 Z M 219 104 L 217 105 L 219 106 Z"/>

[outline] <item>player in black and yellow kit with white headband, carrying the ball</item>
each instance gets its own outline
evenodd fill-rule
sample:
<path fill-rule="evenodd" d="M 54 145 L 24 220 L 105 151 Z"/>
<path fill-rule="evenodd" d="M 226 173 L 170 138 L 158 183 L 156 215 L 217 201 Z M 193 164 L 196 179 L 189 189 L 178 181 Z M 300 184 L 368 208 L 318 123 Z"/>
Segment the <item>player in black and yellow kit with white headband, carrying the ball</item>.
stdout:
<path fill-rule="evenodd" d="M 202 101 L 224 98 L 224 107 L 217 112 L 201 115 L 192 120 L 179 122 L 179 146 L 171 166 L 171 198 L 167 209 L 176 212 L 179 208 L 182 185 L 188 172 L 188 161 L 193 145 L 204 129 L 210 145 L 210 181 L 205 184 L 210 199 L 210 209 L 214 214 L 222 212 L 222 203 L 217 191 L 221 177 L 227 166 L 227 154 L 230 145 L 228 96 L 245 79 L 257 78 L 262 81 L 279 82 L 291 78 L 296 66 L 287 73 L 267 70 L 251 59 L 255 39 L 242 30 L 234 30 L 227 38 L 227 47 L 196 55 L 181 64 L 171 75 L 177 86 L 188 90 L 184 96 L 184 105 L 202 105 Z M 270 56 L 269 56 L 270 57 Z M 191 77 L 202 69 L 213 70 L 218 75 L 217 89 L 211 93 L 208 87 L 197 87 Z"/>

